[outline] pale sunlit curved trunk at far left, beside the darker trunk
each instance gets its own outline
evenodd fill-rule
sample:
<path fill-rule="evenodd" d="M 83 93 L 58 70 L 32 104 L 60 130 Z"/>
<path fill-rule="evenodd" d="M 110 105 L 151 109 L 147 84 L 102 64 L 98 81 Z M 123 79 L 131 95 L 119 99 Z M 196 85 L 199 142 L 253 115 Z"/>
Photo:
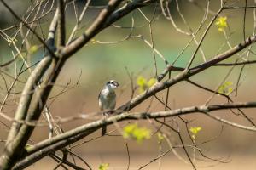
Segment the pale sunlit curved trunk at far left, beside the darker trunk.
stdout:
<path fill-rule="evenodd" d="M 25 22 L 23 23 L 24 25 L 26 25 Z M 25 120 L 28 113 L 28 109 L 31 104 L 31 100 L 32 100 L 32 95 L 33 95 L 31 93 L 32 89 L 34 89 L 34 87 L 38 84 L 38 81 L 44 75 L 46 70 L 49 68 L 49 65 L 52 63 L 52 60 L 55 60 L 55 54 L 54 55 L 52 54 L 54 53 L 53 51 L 55 51 L 56 23 L 57 23 L 57 12 L 55 13 L 55 16 L 51 22 L 51 25 L 49 26 L 49 35 L 46 41 L 47 45 L 44 46 L 45 48 L 48 48 L 48 54 L 51 54 L 51 55 L 44 56 L 44 59 L 42 59 L 40 63 L 37 65 L 37 67 L 35 68 L 35 70 L 32 71 L 31 76 L 26 82 L 25 88 L 20 98 L 19 106 L 15 113 L 15 120 L 18 122 L 20 120 Z M 31 29 L 30 27 L 28 28 Z M 34 33 L 32 29 L 31 31 Z M 42 41 L 44 43 L 44 40 Z M 24 127 L 24 124 L 22 124 L 22 127 Z M 17 122 L 13 122 L 11 130 L 9 131 L 8 142 L 3 151 L 3 155 L 0 158 L 1 169 L 8 169 L 12 167 L 13 166 L 12 164 L 14 164 L 14 162 L 17 161 L 18 159 L 17 157 L 19 157 L 24 151 L 24 145 L 26 144 L 26 141 L 30 137 L 30 135 L 26 135 L 26 131 L 20 130 L 20 129 L 21 129 L 20 124 Z"/>

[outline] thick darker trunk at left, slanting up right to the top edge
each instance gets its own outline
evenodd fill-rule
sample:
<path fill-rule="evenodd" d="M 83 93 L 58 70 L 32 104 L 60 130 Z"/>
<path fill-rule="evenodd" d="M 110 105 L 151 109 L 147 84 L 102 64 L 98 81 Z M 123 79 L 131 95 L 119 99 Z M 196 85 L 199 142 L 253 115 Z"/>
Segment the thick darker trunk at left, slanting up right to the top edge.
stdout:
<path fill-rule="evenodd" d="M 3 1 L 3 0 L 1 0 Z M 97 17 L 96 21 L 85 31 L 85 34 L 87 35 L 95 35 L 99 31 L 102 31 L 103 28 L 107 27 L 104 25 L 105 20 L 108 19 L 108 15 L 115 10 L 115 8 L 118 7 L 119 3 L 121 3 L 121 0 L 111 0 L 108 3 L 108 7 L 102 9 L 102 12 L 99 14 Z M 61 10 L 61 9 L 60 9 Z M 129 11 L 131 12 L 131 11 Z M 18 20 L 20 18 L 16 17 Z M 121 18 L 121 17 L 120 17 Z M 54 18 L 55 20 L 55 18 Z M 20 21 L 22 21 L 20 19 Z M 24 23 L 26 25 L 26 23 Z M 108 24 L 111 24 L 111 22 L 108 22 Z M 33 32 L 33 31 L 32 31 Z M 34 32 L 33 32 L 34 33 Z M 82 36 L 84 37 L 84 36 Z M 82 42 L 83 45 L 86 43 L 86 41 Z M 70 45 L 72 46 L 73 43 Z M 48 46 L 47 46 L 48 47 Z M 46 48 L 47 48 L 46 47 Z M 50 53 L 51 51 L 49 51 Z M 54 83 L 56 78 L 58 77 L 62 66 L 64 65 L 66 59 L 67 59 L 67 54 L 65 53 L 65 50 L 59 50 L 57 51 L 58 53 L 56 56 L 58 58 L 54 58 L 51 62 L 51 65 L 49 67 L 48 75 L 44 77 L 44 82 L 42 82 L 42 86 L 45 88 L 38 88 L 35 91 L 35 99 L 32 105 L 30 105 L 30 112 L 26 116 L 26 121 L 35 121 L 38 120 L 39 116 L 41 115 L 41 111 L 44 108 L 44 105 L 46 103 L 46 100 L 49 96 L 49 93 L 52 89 L 52 86 L 48 86 L 50 83 Z M 55 56 L 55 55 L 54 55 Z M 65 57 L 64 57 L 65 56 Z M 28 107 L 28 106 L 26 106 Z M 19 159 L 20 156 L 24 154 L 23 150 L 24 146 L 27 142 L 27 140 L 30 138 L 32 131 L 34 127 L 30 127 L 26 124 L 22 124 L 20 127 L 19 133 L 15 136 L 15 139 L 12 140 L 11 143 L 9 143 L 6 147 L 5 150 L 3 151 L 3 155 L 0 158 L 0 165 L 2 169 L 9 169 L 10 167 L 13 167 L 15 161 Z M 20 152 L 18 152 L 20 150 Z M 16 155 L 16 153 L 19 153 Z"/>

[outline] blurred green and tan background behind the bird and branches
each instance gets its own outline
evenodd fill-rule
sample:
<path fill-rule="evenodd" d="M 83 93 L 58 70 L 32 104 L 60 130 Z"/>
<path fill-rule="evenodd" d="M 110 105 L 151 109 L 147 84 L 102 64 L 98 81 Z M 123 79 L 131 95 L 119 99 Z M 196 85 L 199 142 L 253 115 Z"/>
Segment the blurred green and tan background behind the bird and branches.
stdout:
<path fill-rule="evenodd" d="M 104 6 L 108 1 L 92 1 L 91 6 Z M 192 2 L 192 3 L 191 3 Z M 194 3 L 193 3 L 194 2 Z M 244 7 L 244 1 L 227 1 L 227 6 Z M 9 1 L 10 7 L 15 9 L 17 14 L 20 16 L 26 13 L 26 9 L 31 5 L 30 1 Z M 86 1 L 76 1 L 75 5 L 79 12 L 84 8 Z M 188 25 L 195 31 L 201 23 L 207 1 L 196 0 L 196 1 L 178 1 L 178 5 L 184 19 Z M 247 1 L 247 6 L 253 6 L 253 0 Z M 48 7 L 49 8 L 49 7 Z M 177 3 L 172 1 L 169 3 L 169 8 L 172 14 L 172 18 L 175 21 L 177 27 L 184 31 L 189 31 L 187 26 L 184 25 L 181 16 L 177 12 Z M 207 29 L 209 22 L 212 20 L 214 14 L 217 13 L 220 8 L 220 1 L 211 1 L 209 5 L 208 18 L 203 24 L 201 31 L 198 32 L 196 39 L 199 41 L 202 34 Z M 146 8 L 140 9 L 143 14 L 152 22 L 152 36 L 154 40 L 154 48 L 160 51 L 169 63 L 172 63 L 179 54 L 186 47 L 186 44 L 191 40 L 191 37 L 178 32 L 173 26 L 170 20 L 161 14 L 160 5 L 150 5 Z M 96 18 L 99 13 L 99 8 L 89 8 L 84 16 L 84 20 L 80 26 L 77 36 L 90 26 L 90 23 Z M 40 20 L 41 26 L 35 27 L 35 30 L 40 32 L 40 35 L 47 37 L 47 29 L 49 27 L 49 21 L 52 19 L 54 12 L 50 12 Z M 125 104 L 131 99 L 131 81 L 129 74 L 132 77 L 134 84 L 136 85 L 137 77 L 143 76 L 147 79 L 154 77 L 154 55 L 152 48 L 150 48 L 142 38 L 130 38 L 122 41 L 130 33 L 132 36 L 142 36 L 144 40 L 151 42 L 150 31 L 148 21 L 145 20 L 143 14 L 136 10 L 132 14 L 128 14 L 122 20 L 115 23 L 115 26 L 110 26 L 105 31 L 102 31 L 94 39 L 89 42 L 84 48 L 79 50 L 78 53 L 74 54 L 72 58 L 68 59 L 65 67 L 61 71 L 61 75 L 58 78 L 57 84 L 55 85 L 54 91 L 52 92 L 51 99 L 49 99 L 49 109 L 54 117 L 68 117 L 77 116 L 79 114 L 90 114 L 92 112 L 99 111 L 97 96 L 102 89 L 105 82 L 110 79 L 115 79 L 119 82 L 120 87 L 117 89 L 117 106 Z M 226 16 L 228 27 L 225 28 L 224 32 L 218 31 L 218 27 L 214 24 L 207 32 L 205 40 L 201 44 L 206 59 L 212 59 L 216 54 L 221 54 L 225 50 L 229 49 L 227 39 L 231 46 L 235 46 L 237 43 L 243 41 L 245 37 L 253 35 L 253 8 L 247 8 L 245 25 L 243 21 L 244 9 L 227 9 L 223 10 L 219 16 Z M 134 18 L 135 28 L 131 32 L 131 18 Z M 17 20 L 9 14 L 9 12 L 0 5 L 0 29 L 3 30 L 9 26 L 16 26 Z M 73 30 L 76 20 L 74 15 L 73 2 L 70 1 L 67 5 L 67 35 Z M 17 25 L 19 26 L 19 25 Z M 122 26 L 122 28 L 119 28 Z M 26 31 L 26 28 L 23 28 Z M 10 29 L 4 31 L 10 37 L 15 37 L 16 29 Z M 68 37 L 68 36 L 67 36 Z M 17 44 L 22 42 L 20 35 L 15 37 Z M 36 47 L 30 53 L 31 65 L 37 63 L 42 59 L 44 55 L 44 49 L 40 46 L 40 43 L 35 37 L 29 37 L 31 45 Z M 3 38 L 0 39 L 0 61 L 1 64 L 6 63 L 12 57 L 12 51 L 15 49 L 13 46 L 9 46 Z M 19 47 L 19 46 L 18 46 Z M 191 42 L 188 48 L 184 49 L 183 54 L 177 59 L 176 66 L 184 67 L 188 64 L 190 57 L 195 52 L 195 42 Z M 253 51 L 253 47 L 251 50 Z M 21 53 L 26 54 L 26 50 Z M 246 51 L 242 51 L 240 54 L 245 57 Z M 255 59 L 253 53 L 249 54 L 249 59 Z M 235 62 L 238 55 L 234 55 L 232 59 L 228 59 L 227 62 Z M 198 52 L 193 65 L 202 63 L 201 53 Z M 166 67 L 166 64 L 156 54 L 157 71 L 160 73 Z M 22 59 L 17 58 L 17 68 L 22 65 Z M 233 82 L 232 88 L 236 88 L 236 82 L 241 72 L 241 66 L 237 66 L 230 71 L 231 67 L 212 67 L 207 71 L 203 71 L 200 74 L 192 77 L 191 80 L 211 88 L 217 89 L 227 74 L 230 75 L 226 78 L 226 81 Z M 15 62 L 2 67 L 2 71 L 9 75 L 15 75 Z M 230 94 L 230 97 L 234 101 L 255 101 L 255 66 L 246 65 L 241 72 L 240 86 L 238 88 L 237 95 L 235 93 Z M 129 73 L 129 74 L 128 74 Z M 26 81 L 29 72 L 26 71 L 20 78 Z M 172 77 L 175 77 L 177 72 L 172 73 Z M 4 76 L 6 77 L 6 75 Z M 6 77 L 5 80 L 1 80 L 1 100 L 4 99 L 6 94 L 5 84 L 9 87 L 12 79 Z M 68 86 L 68 88 L 65 88 Z M 15 92 L 20 92 L 23 84 L 17 83 Z M 62 93 L 62 91 L 64 92 Z M 61 94 L 60 94 L 61 93 Z M 60 95 L 59 95 L 60 94 Z M 139 94 L 138 90 L 135 95 Z M 188 82 L 179 82 L 170 88 L 169 105 L 172 109 L 182 108 L 192 105 L 203 105 L 207 99 L 211 97 L 211 93 L 203 91 L 200 88 L 189 84 Z M 166 91 L 163 91 L 157 96 L 160 99 L 166 98 Z M 13 95 L 9 98 L 9 102 L 16 104 L 18 101 L 18 95 Z M 227 102 L 222 96 L 214 95 L 210 104 L 221 104 Z M 132 111 L 145 111 L 150 105 L 149 111 L 164 111 L 165 107 L 160 104 L 156 99 L 151 99 L 143 102 L 142 105 L 137 106 Z M 6 105 L 3 108 L 3 112 L 8 113 L 12 116 L 15 111 L 15 105 Z M 255 122 L 255 110 L 247 109 L 244 110 L 254 122 Z M 237 113 L 237 111 L 235 111 Z M 221 116 L 224 119 L 232 122 L 241 123 L 243 125 L 250 126 L 241 116 L 237 116 L 231 111 L 216 111 L 212 112 L 215 116 Z M 189 121 L 189 127 L 202 127 L 201 132 L 198 134 L 196 143 L 200 144 L 199 148 L 206 156 L 212 158 L 212 160 L 221 160 L 225 163 L 218 161 L 212 161 L 205 159 L 195 153 L 195 166 L 198 169 L 255 169 L 256 162 L 254 156 L 256 152 L 256 146 L 253 144 L 256 135 L 253 132 L 247 132 L 235 127 L 224 125 L 220 122 L 212 120 L 211 118 L 204 116 L 200 113 L 182 116 L 183 119 Z M 174 118 L 182 132 L 182 136 L 185 144 L 191 144 L 189 141 L 188 133 L 183 122 L 177 117 Z M 169 118 L 171 120 L 171 118 Z M 75 122 L 65 122 L 61 124 L 63 131 L 78 127 L 86 122 L 92 122 L 93 120 L 79 120 Z M 3 122 L 5 122 L 3 120 Z M 6 122 L 9 124 L 9 122 Z M 120 126 L 124 126 L 128 122 L 121 122 Z M 155 129 L 150 125 L 148 121 L 137 122 L 142 127 L 148 127 Z M 158 124 L 160 126 L 160 124 Z M 108 130 L 113 130 L 116 127 L 110 126 Z M 3 126 L 1 132 L 1 139 L 5 139 L 8 133 L 8 128 Z M 173 132 L 171 132 L 173 133 Z M 136 141 L 123 139 L 119 131 L 115 131 L 111 134 L 113 136 L 106 136 L 100 139 L 94 139 L 100 135 L 100 131 L 93 133 L 86 139 L 82 139 L 78 143 L 83 141 L 89 141 L 84 144 L 80 144 L 73 148 L 73 152 L 81 156 L 87 161 L 93 169 L 97 169 L 101 163 L 109 163 L 109 169 L 126 169 L 129 161 L 127 154 L 126 144 L 128 144 L 130 154 L 130 169 L 138 169 L 149 161 L 154 160 L 155 157 L 159 156 L 159 144 L 158 139 L 154 135 L 151 139 L 143 141 L 143 144 L 137 144 Z M 47 139 L 49 135 L 48 127 L 38 127 L 32 136 L 33 143 L 37 143 L 43 139 Z M 170 139 L 172 144 L 180 145 L 180 140 L 177 138 L 177 134 L 173 133 Z M 201 144 L 203 141 L 208 141 L 205 144 Z M 2 145 L 3 148 L 3 145 Z M 168 150 L 168 144 L 162 143 L 162 150 Z M 193 155 L 193 149 L 188 149 L 189 155 Z M 177 153 L 183 157 L 184 160 L 188 161 L 183 149 L 177 149 Z M 207 161 L 206 161 L 207 160 Z M 82 161 L 78 161 L 79 165 L 84 165 Z M 172 151 L 161 158 L 161 161 L 154 161 L 144 169 L 192 169 L 191 165 L 180 160 L 177 156 L 174 156 Z M 42 161 L 38 161 L 32 167 L 28 169 L 53 169 L 55 167 L 55 161 L 49 157 L 45 157 Z"/>

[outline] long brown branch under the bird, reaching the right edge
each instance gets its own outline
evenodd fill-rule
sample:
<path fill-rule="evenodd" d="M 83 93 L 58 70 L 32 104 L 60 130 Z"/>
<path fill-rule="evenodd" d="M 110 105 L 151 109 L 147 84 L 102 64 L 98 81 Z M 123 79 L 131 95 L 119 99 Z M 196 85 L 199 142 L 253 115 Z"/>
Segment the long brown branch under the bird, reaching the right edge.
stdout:
<path fill-rule="evenodd" d="M 247 102 L 247 103 L 227 103 L 223 105 L 200 105 L 200 106 L 192 106 L 186 107 L 182 109 L 172 110 L 172 111 L 158 111 L 158 112 L 139 112 L 139 113 L 122 113 L 117 116 L 111 116 L 107 119 L 102 119 L 96 122 L 90 122 L 80 127 L 76 127 L 66 133 L 61 133 L 58 136 L 53 137 L 52 139 L 45 139 L 44 141 L 33 145 L 29 149 L 27 149 L 27 156 L 18 162 L 15 165 L 15 168 L 22 167 L 25 168 L 31 165 L 34 161 L 37 161 L 44 156 L 47 156 L 50 152 L 55 150 L 60 150 L 61 148 L 67 146 L 68 144 L 73 144 L 75 141 L 88 136 L 90 133 L 95 132 L 97 129 L 100 129 L 102 126 L 113 124 L 113 122 L 121 122 L 125 120 L 140 120 L 140 119 L 155 119 L 155 118 L 163 118 L 163 117 L 172 117 L 172 116 L 181 116 L 187 115 L 190 113 L 201 112 L 203 114 L 207 114 L 208 116 L 212 116 L 208 114 L 210 111 L 219 111 L 219 110 L 227 110 L 234 108 L 255 108 L 256 102 Z M 244 130 L 256 132 L 255 127 L 246 127 L 236 123 L 230 123 L 220 118 L 216 118 L 216 116 L 212 116 L 214 119 L 218 119 L 218 121 L 229 124 L 233 127 L 238 127 Z"/>

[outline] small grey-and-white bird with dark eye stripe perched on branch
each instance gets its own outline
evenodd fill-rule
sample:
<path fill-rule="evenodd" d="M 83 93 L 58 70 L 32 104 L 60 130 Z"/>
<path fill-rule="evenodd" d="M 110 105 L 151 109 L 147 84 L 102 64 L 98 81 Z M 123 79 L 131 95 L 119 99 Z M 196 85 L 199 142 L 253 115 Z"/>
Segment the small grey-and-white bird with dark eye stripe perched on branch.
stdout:
<path fill-rule="evenodd" d="M 119 87 L 119 83 L 115 80 L 110 80 L 106 82 L 105 86 L 102 88 L 98 99 L 99 107 L 103 111 L 104 116 L 111 114 L 116 104 L 116 94 L 114 92 L 115 88 Z M 107 132 L 107 126 L 102 127 L 102 136 Z"/>

